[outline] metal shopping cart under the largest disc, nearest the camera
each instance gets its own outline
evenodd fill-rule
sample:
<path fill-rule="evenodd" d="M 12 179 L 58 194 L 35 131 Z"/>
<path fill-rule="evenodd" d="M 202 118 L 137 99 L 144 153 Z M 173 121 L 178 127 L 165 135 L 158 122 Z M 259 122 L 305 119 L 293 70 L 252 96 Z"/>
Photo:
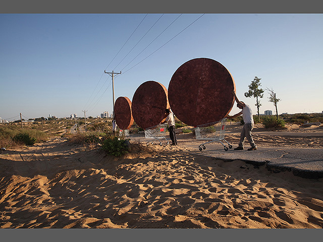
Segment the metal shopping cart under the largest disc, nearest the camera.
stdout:
<path fill-rule="evenodd" d="M 209 140 L 198 146 L 198 149 L 201 151 L 202 148 L 205 150 L 205 144 L 219 141 L 224 146 L 224 150 L 228 151 L 228 147 L 221 141 L 225 141 L 229 144 L 229 149 L 232 148 L 232 145 L 224 139 L 226 131 L 226 120 L 227 118 L 221 119 L 219 122 L 209 123 L 205 125 L 200 125 L 195 128 L 195 137 L 197 140 Z"/>

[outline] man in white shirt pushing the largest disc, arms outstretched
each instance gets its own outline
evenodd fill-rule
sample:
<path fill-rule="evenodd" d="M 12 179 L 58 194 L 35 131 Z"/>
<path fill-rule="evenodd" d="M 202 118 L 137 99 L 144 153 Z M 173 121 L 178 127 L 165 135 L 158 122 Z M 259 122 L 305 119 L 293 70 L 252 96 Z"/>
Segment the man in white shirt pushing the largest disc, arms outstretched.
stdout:
<path fill-rule="evenodd" d="M 251 136 L 251 131 L 254 127 L 252 110 L 249 105 L 245 104 L 244 102 L 239 101 L 239 99 L 234 91 L 232 91 L 232 92 L 233 92 L 234 98 L 237 102 L 237 107 L 242 109 L 242 111 L 233 115 L 233 116 L 227 115 L 227 117 L 234 118 L 234 117 L 240 116 L 242 114 L 243 122 L 244 122 L 244 126 L 243 126 L 241 134 L 240 134 L 239 146 L 237 148 L 235 148 L 235 150 L 243 150 L 243 143 L 244 143 L 245 138 L 247 138 L 247 140 L 251 146 L 248 150 L 256 150 L 257 146 L 253 142 L 253 139 Z"/>

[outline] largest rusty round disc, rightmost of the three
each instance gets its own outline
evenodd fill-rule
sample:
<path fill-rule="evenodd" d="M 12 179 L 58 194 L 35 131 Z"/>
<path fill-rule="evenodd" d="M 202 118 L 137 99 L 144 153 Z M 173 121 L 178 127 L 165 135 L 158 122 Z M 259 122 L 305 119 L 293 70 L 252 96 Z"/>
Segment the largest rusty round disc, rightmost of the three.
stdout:
<path fill-rule="evenodd" d="M 219 62 L 196 58 L 180 66 L 168 87 L 174 114 L 185 124 L 217 122 L 230 113 L 236 86 L 230 72 Z"/>

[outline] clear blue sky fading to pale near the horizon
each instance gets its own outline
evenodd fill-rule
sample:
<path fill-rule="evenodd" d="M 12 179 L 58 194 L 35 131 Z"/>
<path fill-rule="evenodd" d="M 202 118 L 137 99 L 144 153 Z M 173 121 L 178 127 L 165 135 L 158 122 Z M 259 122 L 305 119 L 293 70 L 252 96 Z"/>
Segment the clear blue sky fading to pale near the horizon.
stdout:
<path fill-rule="evenodd" d="M 195 21 L 195 22 L 194 22 Z M 323 111 L 323 14 L 0 14 L 0 117 L 97 116 L 193 58 L 224 65 L 237 96 L 257 76 L 278 113 Z M 273 110 L 267 92 L 260 113 Z M 240 111 L 235 107 L 231 115 Z M 11 118 L 11 119 L 10 119 Z"/>

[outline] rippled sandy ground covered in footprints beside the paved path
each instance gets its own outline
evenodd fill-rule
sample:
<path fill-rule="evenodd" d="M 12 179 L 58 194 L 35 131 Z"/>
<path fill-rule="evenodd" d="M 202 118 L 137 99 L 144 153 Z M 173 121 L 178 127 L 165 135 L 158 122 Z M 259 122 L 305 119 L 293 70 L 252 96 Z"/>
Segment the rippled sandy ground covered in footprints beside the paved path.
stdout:
<path fill-rule="evenodd" d="M 227 139 L 236 143 L 240 129 L 228 126 Z M 322 138 L 254 138 L 258 146 L 323 148 Z M 7 150 L 0 167 L 1 228 L 323 228 L 323 179 L 205 157 L 185 142 L 133 141 L 116 158 L 52 139 Z"/>

